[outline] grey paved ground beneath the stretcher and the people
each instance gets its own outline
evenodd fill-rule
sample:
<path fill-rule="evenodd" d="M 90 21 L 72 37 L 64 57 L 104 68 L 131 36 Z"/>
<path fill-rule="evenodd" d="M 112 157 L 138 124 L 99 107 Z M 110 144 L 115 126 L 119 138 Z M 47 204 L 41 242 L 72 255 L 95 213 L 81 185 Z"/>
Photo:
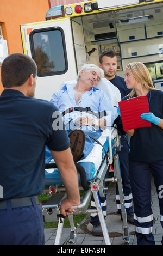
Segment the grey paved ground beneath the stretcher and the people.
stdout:
<path fill-rule="evenodd" d="M 106 216 L 106 227 L 109 232 L 109 238 L 111 245 L 123 245 L 123 222 L 121 221 L 120 215 L 117 215 L 116 206 L 116 184 L 113 183 L 109 186 L 107 195 L 107 216 Z M 163 236 L 163 229 L 160 223 L 160 211 L 158 203 L 158 195 L 155 190 L 154 182 L 152 179 L 152 210 L 155 223 L 153 225 L 153 235 L 155 237 L 155 245 L 161 245 Z M 137 245 L 135 236 L 134 225 L 128 223 L 129 229 L 129 245 Z M 103 236 L 94 236 L 92 234 L 92 225 L 90 224 L 90 218 L 87 216 L 77 227 L 77 246 L 104 246 L 105 240 Z M 71 228 L 63 228 L 60 240 L 60 245 L 70 245 Z M 55 237 L 57 234 L 57 228 L 45 229 L 45 245 L 54 245 Z M 65 247 L 64 247 L 65 248 Z M 69 247 L 68 247 L 69 248 Z"/>

